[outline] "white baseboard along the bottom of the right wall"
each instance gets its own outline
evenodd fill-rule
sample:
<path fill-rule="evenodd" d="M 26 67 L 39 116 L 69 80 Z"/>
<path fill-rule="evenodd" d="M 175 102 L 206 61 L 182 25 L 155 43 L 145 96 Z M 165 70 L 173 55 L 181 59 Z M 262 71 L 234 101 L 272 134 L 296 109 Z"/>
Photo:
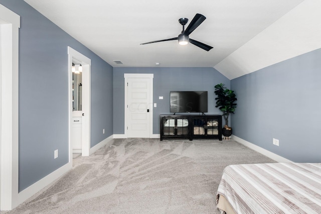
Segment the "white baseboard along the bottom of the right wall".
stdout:
<path fill-rule="evenodd" d="M 280 163 L 293 163 L 293 161 L 290 161 L 286 158 L 283 158 L 282 156 L 279 156 L 273 152 L 270 152 L 266 149 L 263 149 L 262 147 L 259 147 L 259 146 L 256 146 L 255 144 L 252 144 L 246 140 L 243 140 L 242 138 L 239 138 L 239 137 L 236 137 L 235 135 L 232 135 L 231 138 L 237 142 L 239 142 L 240 144 L 243 144 L 244 146 L 250 148 L 250 149 L 253 149 L 254 151 L 256 152 L 259 152 L 261 153 L 262 155 L 265 155 L 277 162 L 280 162 Z"/>

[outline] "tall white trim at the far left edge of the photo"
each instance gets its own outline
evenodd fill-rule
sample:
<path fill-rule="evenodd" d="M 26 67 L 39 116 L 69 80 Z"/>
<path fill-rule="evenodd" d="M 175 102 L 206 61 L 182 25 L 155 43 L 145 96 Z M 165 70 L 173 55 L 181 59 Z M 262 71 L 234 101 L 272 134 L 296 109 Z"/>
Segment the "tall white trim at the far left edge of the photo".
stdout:
<path fill-rule="evenodd" d="M 19 28 L 20 16 L 0 5 L 1 139 L 0 210 L 19 205 Z"/>

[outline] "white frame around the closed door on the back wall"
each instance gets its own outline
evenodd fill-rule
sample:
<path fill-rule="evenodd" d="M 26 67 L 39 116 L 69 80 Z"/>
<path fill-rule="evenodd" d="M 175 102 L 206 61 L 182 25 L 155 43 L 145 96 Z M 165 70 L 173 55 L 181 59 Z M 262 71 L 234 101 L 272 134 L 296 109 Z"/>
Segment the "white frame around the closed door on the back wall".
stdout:
<path fill-rule="evenodd" d="M 125 115 L 125 121 L 124 121 L 124 135 L 125 135 L 125 138 L 127 138 L 127 123 L 128 123 L 128 108 L 127 108 L 127 105 L 128 105 L 128 91 L 127 91 L 127 82 L 128 82 L 128 78 L 148 78 L 149 79 L 149 105 L 150 105 L 150 108 L 149 108 L 149 113 L 150 113 L 150 117 L 149 117 L 149 126 L 150 126 L 150 129 L 149 129 L 149 138 L 151 138 L 152 136 L 152 129 L 153 129 L 153 78 L 154 78 L 154 74 L 152 73 L 124 73 L 124 79 L 125 79 L 125 82 L 124 82 L 124 90 L 125 90 L 125 105 L 124 105 L 124 115 Z"/>

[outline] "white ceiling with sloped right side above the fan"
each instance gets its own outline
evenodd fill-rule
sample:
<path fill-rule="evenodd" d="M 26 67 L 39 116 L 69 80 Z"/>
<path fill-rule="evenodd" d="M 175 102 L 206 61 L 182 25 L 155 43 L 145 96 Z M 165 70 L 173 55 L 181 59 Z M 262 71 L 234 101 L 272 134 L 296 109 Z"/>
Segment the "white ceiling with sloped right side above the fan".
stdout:
<path fill-rule="evenodd" d="M 302 41 L 311 36 L 309 30 L 313 31 L 315 25 L 316 35 L 321 31 L 319 0 L 185 0 L 183 6 L 181 1 L 172 0 L 25 2 L 113 67 L 155 67 L 156 62 L 160 63 L 158 67 L 214 67 L 230 79 L 291 57 L 291 54 L 284 57 L 284 50 L 279 49 L 297 31 L 308 31 L 300 35 Z M 178 20 L 192 21 L 197 13 L 207 19 L 190 38 L 213 46 L 209 52 L 192 44 L 180 46 L 177 41 L 139 45 L 177 37 L 182 31 Z M 305 19 L 306 16 L 309 17 Z M 295 24 L 296 29 L 284 28 L 289 23 Z M 300 30 L 301 26 L 307 27 Z M 321 47 L 319 38 L 313 40 L 311 47 L 303 51 L 299 48 L 295 54 Z M 290 42 L 300 41 L 291 38 Z M 302 47 L 305 46 L 303 42 Z M 261 51 L 264 54 L 259 62 L 253 60 Z M 277 57 L 271 51 L 276 51 Z M 117 65 L 113 60 L 123 64 Z"/>

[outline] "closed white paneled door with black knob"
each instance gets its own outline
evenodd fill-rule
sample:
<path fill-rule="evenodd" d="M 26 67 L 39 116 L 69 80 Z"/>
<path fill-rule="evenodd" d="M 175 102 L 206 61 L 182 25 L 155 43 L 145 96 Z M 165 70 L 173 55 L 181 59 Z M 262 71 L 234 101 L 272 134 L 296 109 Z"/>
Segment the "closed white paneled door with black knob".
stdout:
<path fill-rule="evenodd" d="M 125 129 L 127 137 L 149 138 L 152 132 L 152 79 L 133 77 L 126 78 L 126 80 L 127 120 Z"/>

